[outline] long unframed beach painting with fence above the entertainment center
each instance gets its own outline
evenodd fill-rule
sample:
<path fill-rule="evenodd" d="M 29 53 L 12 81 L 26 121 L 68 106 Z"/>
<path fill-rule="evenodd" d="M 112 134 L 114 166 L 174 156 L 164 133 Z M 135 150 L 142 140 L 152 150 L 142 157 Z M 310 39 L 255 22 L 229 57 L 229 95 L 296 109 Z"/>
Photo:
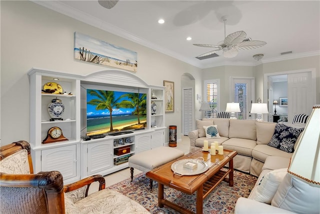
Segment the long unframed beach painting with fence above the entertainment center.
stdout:
<path fill-rule="evenodd" d="M 74 59 L 84 62 L 137 71 L 137 53 L 74 32 Z"/>

